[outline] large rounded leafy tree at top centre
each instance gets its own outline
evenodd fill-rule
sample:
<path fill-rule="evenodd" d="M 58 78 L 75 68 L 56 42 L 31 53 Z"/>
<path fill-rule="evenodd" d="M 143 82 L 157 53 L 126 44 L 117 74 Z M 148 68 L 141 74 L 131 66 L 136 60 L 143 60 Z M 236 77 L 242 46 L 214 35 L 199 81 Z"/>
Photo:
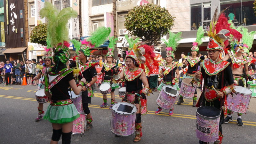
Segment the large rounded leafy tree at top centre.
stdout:
<path fill-rule="evenodd" d="M 159 5 L 144 4 L 133 7 L 128 12 L 124 26 L 132 35 L 152 45 L 172 29 L 174 18 L 168 10 Z"/>

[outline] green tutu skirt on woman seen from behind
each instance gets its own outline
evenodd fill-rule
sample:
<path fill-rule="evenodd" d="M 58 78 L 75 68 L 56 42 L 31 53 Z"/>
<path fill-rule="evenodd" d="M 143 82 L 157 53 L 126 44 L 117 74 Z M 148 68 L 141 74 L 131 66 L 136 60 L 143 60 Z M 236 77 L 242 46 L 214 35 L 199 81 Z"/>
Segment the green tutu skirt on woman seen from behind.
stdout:
<path fill-rule="evenodd" d="M 44 120 L 55 124 L 65 124 L 76 120 L 79 116 L 73 103 L 61 106 L 49 105 L 45 112 Z"/>

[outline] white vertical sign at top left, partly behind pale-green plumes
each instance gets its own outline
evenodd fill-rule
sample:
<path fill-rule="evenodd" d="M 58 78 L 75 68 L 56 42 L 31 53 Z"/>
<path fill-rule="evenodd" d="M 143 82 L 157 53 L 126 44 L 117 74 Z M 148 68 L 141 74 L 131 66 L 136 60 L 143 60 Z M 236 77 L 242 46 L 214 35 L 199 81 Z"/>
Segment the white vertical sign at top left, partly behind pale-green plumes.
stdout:
<path fill-rule="evenodd" d="M 44 0 L 35 0 L 35 26 L 45 23 L 45 18 L 40 18 L 40 10 L 44 7 Z"/>

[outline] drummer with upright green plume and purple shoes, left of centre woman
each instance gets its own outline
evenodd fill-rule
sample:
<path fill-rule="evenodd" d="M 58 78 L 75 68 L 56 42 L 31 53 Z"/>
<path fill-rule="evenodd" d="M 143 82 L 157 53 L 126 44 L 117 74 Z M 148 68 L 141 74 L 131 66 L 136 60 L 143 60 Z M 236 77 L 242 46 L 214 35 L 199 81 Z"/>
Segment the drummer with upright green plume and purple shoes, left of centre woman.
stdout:
<path fill-rule="evenodd" d="M 114 75 L 114 68 L 116 68 L 116 64 L 113 63 L 113 57 L 114 57 L 114 45 L 116 44 L 116 41 L 118 38 L 113 39 L 113 37 L 109 37 L 109 45 L 108 45 L 108 53 L 106 54 L 107 56 L 107 61 L 108 62 L 103 62 L 103 67 L 100 71 L 100 73 L 98 75 L 102 75 L 102 84 L 109 84 L 110 88 L 111 88 L 111 105 L 109 107 L 109 109 L 112 109 L 112 105 L 115 104 L 115 89 L 119 87 L 119 85 L 117 84 L 117 82 L 114 81 L 113 79 L 113 75 Z M 118 73 L 118 72 L 117 72 Z M 117 78 L 117 80 L 119 79 L 119 77 Z M 103 86 L 103 85 L 102 85 Z M 103 97 L 103 103 L 102 105 L 100 105 L 100 108 L 104 108 L 104 107 L 108 107 L 108 103 L 107 103 L 107 95 L 106 94 L 102 94 Z"/>

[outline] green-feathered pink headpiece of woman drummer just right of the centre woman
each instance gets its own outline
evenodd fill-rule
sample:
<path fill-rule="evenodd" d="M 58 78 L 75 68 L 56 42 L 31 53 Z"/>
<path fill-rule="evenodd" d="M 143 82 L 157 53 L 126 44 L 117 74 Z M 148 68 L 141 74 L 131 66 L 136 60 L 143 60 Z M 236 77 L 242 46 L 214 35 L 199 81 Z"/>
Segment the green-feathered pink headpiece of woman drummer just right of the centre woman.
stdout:
<path fill-rule="evenodd" d="M 174 34 L 170 30 L 168 31 L 170 35 L 168 41 L 165 39 L 162 40 L 166 44 L 166 57 L 172 57 L 172 59 L 174 59 L 174 52 L 176 51 L 176 47 L 180 44 L 179 41 L 182 39 L 182 33 L 178 32 L 177 34 Z"/>

